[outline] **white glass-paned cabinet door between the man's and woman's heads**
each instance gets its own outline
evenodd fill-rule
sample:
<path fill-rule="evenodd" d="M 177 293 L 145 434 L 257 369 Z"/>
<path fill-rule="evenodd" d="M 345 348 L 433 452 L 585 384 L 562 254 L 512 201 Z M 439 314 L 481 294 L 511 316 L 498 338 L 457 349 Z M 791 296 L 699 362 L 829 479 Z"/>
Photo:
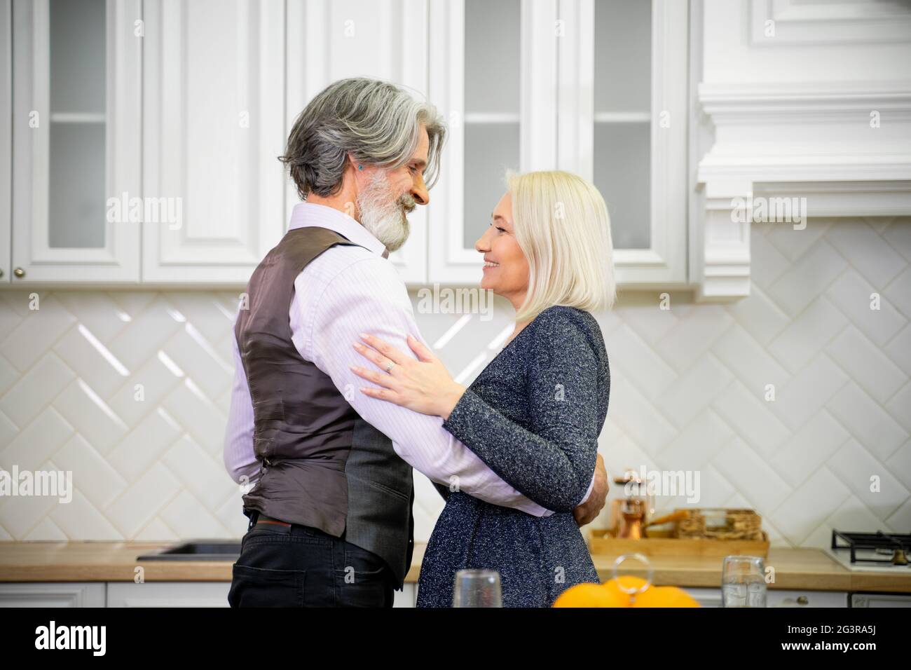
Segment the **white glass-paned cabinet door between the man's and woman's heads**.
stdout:
<path fill-rule="evenodd" d="M 428 208 L 428 276 L 480 282 L 475 242 L 507 170 L 556 167 L 556 0 L 429 4 L 429 98 L 449 129 Z"/>

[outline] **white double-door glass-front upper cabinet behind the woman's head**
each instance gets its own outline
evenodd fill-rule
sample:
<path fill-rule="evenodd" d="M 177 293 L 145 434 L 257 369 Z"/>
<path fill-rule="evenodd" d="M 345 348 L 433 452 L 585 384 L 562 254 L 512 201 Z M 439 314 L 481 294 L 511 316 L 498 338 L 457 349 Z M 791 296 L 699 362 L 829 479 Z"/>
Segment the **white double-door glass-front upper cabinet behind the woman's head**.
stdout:
<path fill-rule="evenodd" d="M 430 98 L 449 122 L 428 278 L 477 283 L 511 170 L 568 170 L 608 202 L 617 281 L 686 282 L 688 4 L 430 5 Z"/>

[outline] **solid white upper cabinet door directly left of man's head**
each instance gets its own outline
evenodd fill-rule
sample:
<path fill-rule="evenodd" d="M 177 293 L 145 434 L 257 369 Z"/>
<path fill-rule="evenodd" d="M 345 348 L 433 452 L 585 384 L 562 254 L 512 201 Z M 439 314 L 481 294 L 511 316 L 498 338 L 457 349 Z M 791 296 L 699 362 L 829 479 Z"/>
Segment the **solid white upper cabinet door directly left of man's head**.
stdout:
<path fill-rule="evenodd" d="M 144 9 L 143 281 L 246 283 L 286 227 L 283 3 Z"/>

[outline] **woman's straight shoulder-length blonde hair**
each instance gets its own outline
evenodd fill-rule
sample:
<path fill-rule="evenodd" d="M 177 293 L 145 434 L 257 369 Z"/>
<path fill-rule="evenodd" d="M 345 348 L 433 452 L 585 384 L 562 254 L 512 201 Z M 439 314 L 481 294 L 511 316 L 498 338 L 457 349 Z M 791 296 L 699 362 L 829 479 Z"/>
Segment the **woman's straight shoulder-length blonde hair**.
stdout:
<path fill-rule="evenodd" d="M 528 291 L 516 321 L 553 305 L 589 312 L 617 298 L 607 205 L 589 181 L 562 170 L 508 173 L 516 241 L 528 261 Z"/>

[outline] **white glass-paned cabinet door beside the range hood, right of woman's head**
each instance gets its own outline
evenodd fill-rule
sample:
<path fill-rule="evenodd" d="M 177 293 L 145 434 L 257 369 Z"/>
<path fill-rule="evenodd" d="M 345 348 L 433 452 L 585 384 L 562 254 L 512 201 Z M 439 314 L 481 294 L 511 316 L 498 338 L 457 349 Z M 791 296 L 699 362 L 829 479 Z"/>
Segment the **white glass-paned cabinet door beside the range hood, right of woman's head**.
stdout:
<path fill-rule="evenodd" d="M 560 0 L 559 167 L 608 205 L 627 286 L 686 282 L 689 4 Z"/>

